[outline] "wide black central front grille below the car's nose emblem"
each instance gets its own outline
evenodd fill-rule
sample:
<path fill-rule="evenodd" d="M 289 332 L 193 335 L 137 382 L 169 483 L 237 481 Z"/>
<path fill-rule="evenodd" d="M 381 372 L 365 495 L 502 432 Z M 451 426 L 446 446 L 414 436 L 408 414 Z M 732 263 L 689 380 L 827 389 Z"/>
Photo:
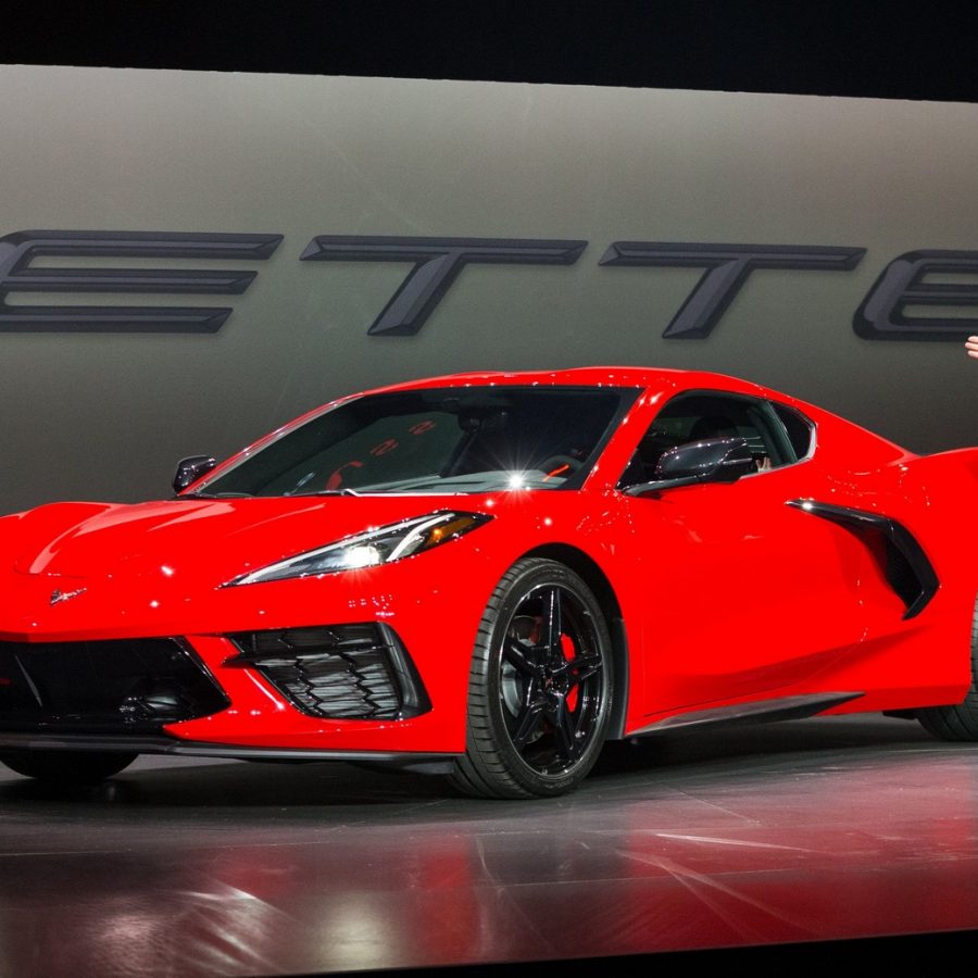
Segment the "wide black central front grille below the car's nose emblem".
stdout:
<path fill-rule="evenodd" d="M 2 730 L 149 734 L 229 702 L 174 639 L 0 642 Z"/>

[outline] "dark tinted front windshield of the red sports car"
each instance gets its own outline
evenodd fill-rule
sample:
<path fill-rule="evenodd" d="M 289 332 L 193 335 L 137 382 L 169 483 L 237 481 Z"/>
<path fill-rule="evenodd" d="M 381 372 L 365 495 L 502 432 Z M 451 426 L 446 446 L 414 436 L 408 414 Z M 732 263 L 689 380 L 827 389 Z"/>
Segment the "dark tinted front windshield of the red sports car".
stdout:
<path fill-rule="evenodd" d="M 366 394 L 287 429 L 187 494 L 576 488 L 637 393 L 492 386 Z"/>

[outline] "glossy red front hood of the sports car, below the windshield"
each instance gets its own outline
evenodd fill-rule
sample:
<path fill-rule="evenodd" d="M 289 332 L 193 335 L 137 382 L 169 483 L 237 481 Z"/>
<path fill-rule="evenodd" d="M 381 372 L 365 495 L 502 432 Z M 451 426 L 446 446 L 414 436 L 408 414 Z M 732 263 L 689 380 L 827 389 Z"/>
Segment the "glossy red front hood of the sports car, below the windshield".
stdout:
<path fill-rule="evenodd" d="M 471 497 L 400 496 L 53 503 L 0 522 L 0 560 L 23 575 L 163 573 L 216 587 L 369 527 L 441 510 L 479 509 L 473 502 Z"/>

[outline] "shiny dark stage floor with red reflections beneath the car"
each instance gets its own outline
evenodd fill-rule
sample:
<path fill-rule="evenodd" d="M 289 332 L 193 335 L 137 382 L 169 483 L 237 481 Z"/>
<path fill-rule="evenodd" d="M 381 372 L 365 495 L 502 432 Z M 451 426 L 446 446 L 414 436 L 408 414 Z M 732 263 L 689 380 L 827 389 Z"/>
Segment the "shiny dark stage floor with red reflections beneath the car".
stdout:
<path fill-rule="evenodd" d="M 145 757 L 77 791 L 3 772 L 2 978 L 940 967 L 978 936 L 978 748 L 905 720 L 615 745 L 539 802 L 348 765 Z"/>

